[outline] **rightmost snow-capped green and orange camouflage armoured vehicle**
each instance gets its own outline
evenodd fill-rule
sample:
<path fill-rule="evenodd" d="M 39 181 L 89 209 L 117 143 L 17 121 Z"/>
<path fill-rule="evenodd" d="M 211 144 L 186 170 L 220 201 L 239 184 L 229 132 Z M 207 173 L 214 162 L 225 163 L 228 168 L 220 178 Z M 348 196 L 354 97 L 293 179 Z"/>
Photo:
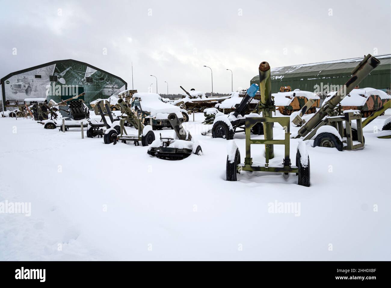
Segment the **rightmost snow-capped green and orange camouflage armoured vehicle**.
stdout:
<path fill-rule="evenodd" d="M 325 99 L 329 100 L 336 92 L 330 92 Z M 360 110 L 361 117 L 367 118 L 382 105 L 390 101 L 391 96 L 386 92 L 373 88 L 353 89 L 348 97 L 341 101 L 343 110 Z"/>

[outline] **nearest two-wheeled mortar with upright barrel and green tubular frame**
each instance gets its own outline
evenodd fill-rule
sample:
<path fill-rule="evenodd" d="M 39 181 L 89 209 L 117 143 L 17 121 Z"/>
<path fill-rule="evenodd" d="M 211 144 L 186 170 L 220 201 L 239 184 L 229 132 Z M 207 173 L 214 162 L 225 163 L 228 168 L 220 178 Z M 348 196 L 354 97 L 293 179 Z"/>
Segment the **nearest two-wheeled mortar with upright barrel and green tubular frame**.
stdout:
<path fill-rule="evenodd" d="M 228 144 L 228 156 L 226 162 L 226 180 L 237 181 L 237 174 L 240 171 L 258 171 L 258 172 L 280 172 L 283 176 L 288 177 L 289 173 L 298 175 L 298 184 L 302 186 L 310 186 L 310 159 L 303 141 L 299 142 L 296 153 L 296 166 L 291 165 L 289 156 L 290 146 L 290 118 L 289 117 L 273 117 L 273 112 L 276 110 L 274 101 L 271 95 L 271 77 L 270 65 L 267 62 L 262 62 L 259 65 L 259 81 L 261 100 L 258 107 L 262 111 L 262 117 L 257 114 L 250 114 L 245 118 L 246 129 L 246 157 L 244 164 L 240 163 L 240 152 L 235 141 L 230 141 Z M 256 84 L 253 84 L 256 85 Z M 258 86 L 258 85 L 256 85 Z M 257 89 L 258 90 L 258 89 Z M 249 93 L 248 93 L 249 94 Z M 251 94 L 249 95 L 251 96 Z M 247 96 L 246 96 L 247 97 Z M 285 129 L 284 139 L 273 139 L 273 123 L 278 122 Z M 251 139 L 251 128 L 255 125 L 263 124 L 264 139 Z M 265 165 L 253 165 L 251 158 L 251 145 L 265 145 Z M 274 158 L 274 146 L 284 145 L 285 155 L 282 165 L 272 167 L 269 165 L 269 159 Z"/>

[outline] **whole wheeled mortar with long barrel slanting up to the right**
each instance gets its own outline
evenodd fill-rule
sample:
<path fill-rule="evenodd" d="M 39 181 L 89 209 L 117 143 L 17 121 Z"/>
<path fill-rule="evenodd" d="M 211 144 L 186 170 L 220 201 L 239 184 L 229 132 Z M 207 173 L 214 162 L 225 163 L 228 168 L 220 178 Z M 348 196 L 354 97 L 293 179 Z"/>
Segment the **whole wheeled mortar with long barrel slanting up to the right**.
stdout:
<path fill-rule="evenodd" d="M 353 69 L 352 77 L 299 129 L 294 138 L 308 140 L 315 137 L 314 147 L 335 147 L 339 151 L 362 149 L 365 139 L 361 112 L 344 110 L 341 115 L 338 105 L 379 64 L 380 61 L 371 54 L 365 56 Z M 352 120 L 356 120 L 356 125 L 352 125 Z M 353 141 L 359 143 L 354 144 Z"/>

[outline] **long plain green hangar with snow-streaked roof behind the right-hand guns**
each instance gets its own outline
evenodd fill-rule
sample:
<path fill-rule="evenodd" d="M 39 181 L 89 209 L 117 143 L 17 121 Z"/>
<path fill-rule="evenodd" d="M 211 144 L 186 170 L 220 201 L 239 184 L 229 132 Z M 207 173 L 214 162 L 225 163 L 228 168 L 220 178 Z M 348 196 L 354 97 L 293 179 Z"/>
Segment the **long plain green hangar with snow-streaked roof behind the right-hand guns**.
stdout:
<path fill-rule="evenodd" d="M 371 87 L 387 91 L 391 86 L 391 54 L 376 55 L 380 65 L 371 72 L 360 84 L 360 87 Z M 334 60 L 328 62 L 293 65 L 271 69 L 271 91 L 277 93 L 281 86 L 291 86 L 302 91 L 324 92 L 333 91 L 335 85 L 343 85 L 352 76 L 351 72 L 363 57 Z M 259 84 L 256 75 L 250 81 Z M 338 87 L 337 86 L 337 87 Z M 317 90 L 318 88 L 318 90 Z M 323 89 L 322 89 L 323 88 Z M 323 92 L 323 93 L 322 93 Z"/>

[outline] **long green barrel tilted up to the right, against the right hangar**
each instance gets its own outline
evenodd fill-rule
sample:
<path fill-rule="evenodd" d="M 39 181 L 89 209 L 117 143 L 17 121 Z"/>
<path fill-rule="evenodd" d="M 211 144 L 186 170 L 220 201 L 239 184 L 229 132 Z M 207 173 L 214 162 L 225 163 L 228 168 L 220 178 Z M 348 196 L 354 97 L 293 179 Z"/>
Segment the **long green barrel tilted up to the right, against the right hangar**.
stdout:
<path fill-rule="evenodd" d="M 368 54 L 352 71 L 352 77 L 346 82 L 341 89 L 327 103 L 315 113 L 298 131 L 299 137 L 305 137 L 312 131 L 325 116 L 334 116 L 334 110 L 337 105 L 346 97 L 368 74 L 380 64 L 380 61 Z"/>

